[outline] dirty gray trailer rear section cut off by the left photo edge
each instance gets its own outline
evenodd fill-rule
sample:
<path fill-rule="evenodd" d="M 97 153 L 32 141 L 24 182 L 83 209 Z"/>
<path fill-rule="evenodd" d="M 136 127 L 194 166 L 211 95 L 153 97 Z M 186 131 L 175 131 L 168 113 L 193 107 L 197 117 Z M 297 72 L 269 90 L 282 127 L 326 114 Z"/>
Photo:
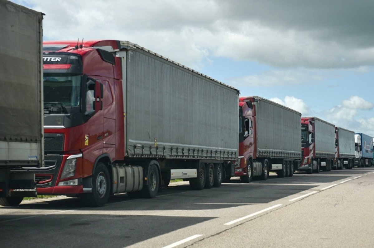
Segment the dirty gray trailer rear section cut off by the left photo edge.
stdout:
<path fill-rule="evenodd" d="M 44 164 L 42 20 L 41 12 L 0 0 L 0 205 L 36 196 L 28 168 Z"/>

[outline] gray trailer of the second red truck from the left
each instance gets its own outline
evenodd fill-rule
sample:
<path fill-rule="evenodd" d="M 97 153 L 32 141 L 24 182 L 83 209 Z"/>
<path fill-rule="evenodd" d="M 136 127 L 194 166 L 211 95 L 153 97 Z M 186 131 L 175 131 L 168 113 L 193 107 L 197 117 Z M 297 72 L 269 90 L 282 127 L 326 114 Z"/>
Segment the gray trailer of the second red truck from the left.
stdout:
<path fill-rule="evenodd" d="M 256 99 L 257 159 L 268 158 L 269 171 L 280 177 L 287 176 L 288 170 L 292 176 L 301 159 L 301 113 L 261 97 Z"/>

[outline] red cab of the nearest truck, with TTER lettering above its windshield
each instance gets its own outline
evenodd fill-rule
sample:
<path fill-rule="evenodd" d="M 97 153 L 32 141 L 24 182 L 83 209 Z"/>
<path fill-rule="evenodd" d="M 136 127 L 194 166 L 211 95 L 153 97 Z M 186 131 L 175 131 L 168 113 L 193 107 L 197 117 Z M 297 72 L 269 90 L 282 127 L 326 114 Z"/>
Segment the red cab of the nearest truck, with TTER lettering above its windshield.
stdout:
<path fill-rule="evenodd" d="M 109 174 L 93 175 L 94 165 L 103 166 L 98 159 L 110 164 L 123 158 L 125 148 L 123 118 L 118 118 L 123 105 L 116 104 L 122 102 L 121 61 L 105 46 L 116 49 L 119 44 L 43 43 L 45 168 L 36 170 L 40 195 L 94 192 L 85 194 L 91 197 L 87 200 L 103 202 L 109 196 Z"/>

